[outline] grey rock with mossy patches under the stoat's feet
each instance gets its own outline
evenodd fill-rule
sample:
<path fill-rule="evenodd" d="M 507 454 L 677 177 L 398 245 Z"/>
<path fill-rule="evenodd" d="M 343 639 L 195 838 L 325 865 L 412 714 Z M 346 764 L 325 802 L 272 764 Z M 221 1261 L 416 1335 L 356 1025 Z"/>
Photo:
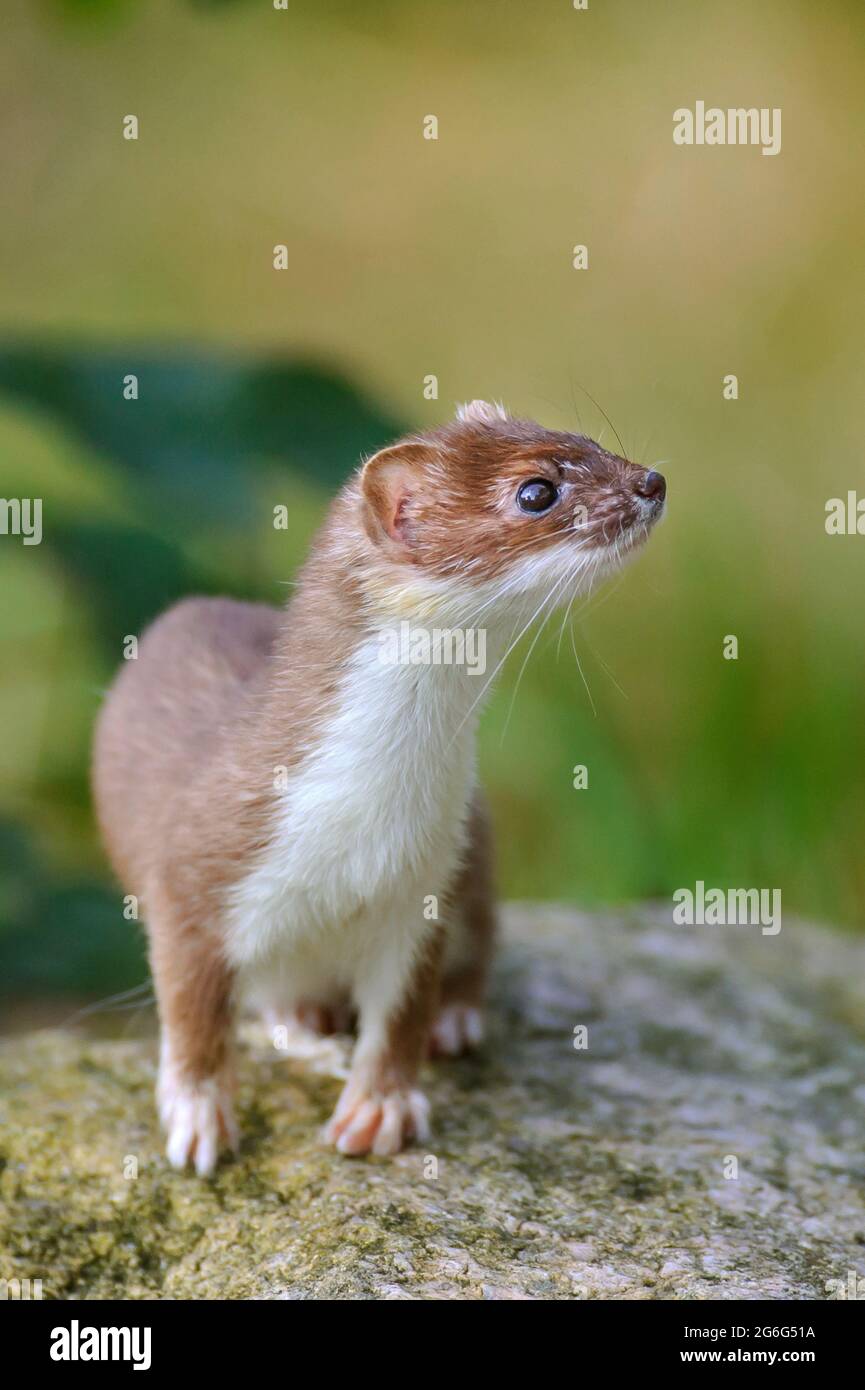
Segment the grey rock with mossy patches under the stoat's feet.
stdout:
<path fill-rule="evenodd" d="M 865 947 L 829 930 L 512 908 L 490 1041 L 428 1069 L 424 1150 L 321 1147 L 343 1048 L 300 1061 L 253 1029 L 241 1158 L 210 1183 L 163 1159 L 154 1042 L 13 1040 L 0 1276 L 46 1298 L 826 1298 L 865 1275 L 864 1037 Z"/>

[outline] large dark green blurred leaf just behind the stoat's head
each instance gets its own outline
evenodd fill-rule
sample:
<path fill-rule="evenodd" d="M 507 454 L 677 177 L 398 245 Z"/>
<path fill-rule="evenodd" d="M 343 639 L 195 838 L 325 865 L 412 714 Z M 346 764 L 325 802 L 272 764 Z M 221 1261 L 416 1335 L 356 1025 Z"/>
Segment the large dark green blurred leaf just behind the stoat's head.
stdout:
<path fill-rule="evenodd" d="M 124 399 L 129 375 L 138 400 Z M 7 345 L 0 392 L 114 460 L 168 534 L 250 520 L 252 470 L 264 459 L 335 488 L 360 455 L 402 432 L 341 377 L 292 360 Z"/>

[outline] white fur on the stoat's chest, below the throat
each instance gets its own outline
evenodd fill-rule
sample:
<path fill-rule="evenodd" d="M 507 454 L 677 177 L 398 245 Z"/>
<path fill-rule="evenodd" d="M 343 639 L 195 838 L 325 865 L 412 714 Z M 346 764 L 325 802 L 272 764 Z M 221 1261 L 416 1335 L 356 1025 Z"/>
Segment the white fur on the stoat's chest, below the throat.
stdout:
<path fill-rule="evenodd" d="M 384 919 L 423 930 L 424 899 L 446 888 L 462 849 L 483 684 L 464 667 L 387 664 L 374 637 L 356 649 L 313 752 L 274 791 L 266 853 L 231 892 L 236 967 L 291 956 L 302 974 L 337 948 L 350 976 L 359 938 Z"/>

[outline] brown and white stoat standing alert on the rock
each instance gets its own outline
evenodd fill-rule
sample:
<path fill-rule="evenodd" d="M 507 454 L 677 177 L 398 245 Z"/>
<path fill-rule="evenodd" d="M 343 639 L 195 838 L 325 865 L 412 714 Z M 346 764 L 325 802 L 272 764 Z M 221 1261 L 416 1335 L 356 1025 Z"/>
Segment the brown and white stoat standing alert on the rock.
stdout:
<path fill-rule="evenodd" d="M 241 1005 L 356 1016 L 327 1129 L 341 1152 L 427 1137 L 419 1066 L 480 1041 L 495 930 L 480 708 L 512 638 L 636 550 L 665 491 L 473 402 L 363 464 L 282 610 L 186 599 L 145 632 L 102 709 L 93 785 L 146 920 L 171 1163 L 206 1175 L 236 1144 Z M 438 659 L 478 631 L 484 670 Z"/>

